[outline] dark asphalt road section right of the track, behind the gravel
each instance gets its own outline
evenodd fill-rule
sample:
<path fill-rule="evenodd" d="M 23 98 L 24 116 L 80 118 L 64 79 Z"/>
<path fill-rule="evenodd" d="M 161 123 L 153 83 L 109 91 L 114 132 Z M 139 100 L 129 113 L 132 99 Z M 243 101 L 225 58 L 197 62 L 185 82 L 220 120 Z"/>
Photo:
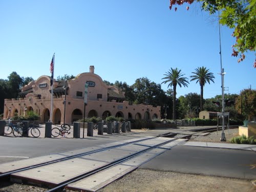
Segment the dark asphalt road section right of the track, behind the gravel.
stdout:
<path fill-rule="evenodd" d="M 176 145 L 140 168 L 255 180 L 252 164 L 256 164 L 253 151 Z"/>

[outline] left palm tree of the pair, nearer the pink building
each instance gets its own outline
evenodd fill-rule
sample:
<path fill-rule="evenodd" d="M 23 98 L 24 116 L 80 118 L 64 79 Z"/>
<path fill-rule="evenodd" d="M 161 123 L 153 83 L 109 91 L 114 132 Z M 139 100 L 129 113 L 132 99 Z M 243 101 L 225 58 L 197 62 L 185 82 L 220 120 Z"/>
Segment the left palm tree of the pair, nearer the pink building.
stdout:
<path fill-rule="evenodd" d="M 187 87 L 188 82 L 188 78 L 183 77 L 184 74 L 181 73 L 181 70 L 179 70 L 178 68 L 173 69 L 170 68 L 170 70 L 168 72 L 166 72 L 165 77 L 163 77 L 162 79 L 166 79 L 165 81 L 163 81 L 162 83 L 169 83 L 168 87 L 172 87 L 173 86 L 173 91 L 174 91 L 174 97 L 173 97 L 173 120 L 176 119 L 176 87 L 177 84 L 181 87 Z M 161 84 L 162 84 L 161 83 Z"/>

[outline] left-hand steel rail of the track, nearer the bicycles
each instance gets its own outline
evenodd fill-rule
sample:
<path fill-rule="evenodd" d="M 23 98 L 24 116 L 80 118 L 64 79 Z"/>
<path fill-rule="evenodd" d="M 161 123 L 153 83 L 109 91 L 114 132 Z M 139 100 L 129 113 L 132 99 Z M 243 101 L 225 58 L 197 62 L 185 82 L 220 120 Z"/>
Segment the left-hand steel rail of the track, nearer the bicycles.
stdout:
<path fill-rule="evenodd" d="M 124 145 L 127 145 L 127 144 L 132 144 L 132 143 L 145 141 L 145 140 L 149 140 L 149 139 L 154 139 L 154 138 L 156 138 L 156 137 L 145 138 L 145 139 L 141 139 L 141 140 L 137 140 L 137 141 L 131 141 L 131 142 L 127 142 L 127 143 L 123 143 L 123 144 L 119 144 L 119 145 L 114 145 L 114 146 L 101 148 L 99 150 L 94 150 L 94 151 L 90 151 L 90 152 L 71 155 L 71 156 L 68 156 L 68 157 L 63 157 L 63 158 L 47 161 L 47 162 L 44 162 L 44 163 L 38 163 L 38 164 L 35 164 L 35 165 L 14 169 L 14 170 L 11 170 L 9 172 L 5 172 L 3 174 L 0 174 L 0 178 L 10 176 L 11 174 L 14 174 L 14 173 L 23 172 L 24 170 L 29 170 L 29 169 L 40 167 L 40 166 L 45 166 L 45 165 L 49 165 L 49 164 L 53 164 L 53 163 L 57 163 L 57 162 L 61 162 L 61 161 L 66 161 L 66 160 L 77 158 L 77 157 L 80 157 L 80 156 L 90 155 L 90 154 L 93 154 L 93 153 L 98 153 L 98 152 L 102 152 L 102 151 L 105 151 L 105 150 L 109 150 L 110 148 L 116 148 L 116 147 L 119 147 L 119 146 L 124 146 Z"/>

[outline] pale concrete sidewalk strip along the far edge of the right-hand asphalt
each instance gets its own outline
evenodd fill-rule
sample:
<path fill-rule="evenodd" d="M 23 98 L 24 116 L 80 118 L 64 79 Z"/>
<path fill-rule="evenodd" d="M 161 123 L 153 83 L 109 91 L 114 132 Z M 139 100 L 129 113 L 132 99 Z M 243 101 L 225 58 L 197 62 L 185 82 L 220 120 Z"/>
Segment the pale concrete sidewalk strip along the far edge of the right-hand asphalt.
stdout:
<path fill-rule="evenodd" d="M 256 145 L 249 144 L 232 144 L 232 143 L 211 143 L 211 142 L 196 142 L 187 141 L 183 143 L 187 146 L 199 146 L 199 147 L 212 147 L 212 148 L 229 148 L 233 150 L 247 150 L 256 152 Z"/>

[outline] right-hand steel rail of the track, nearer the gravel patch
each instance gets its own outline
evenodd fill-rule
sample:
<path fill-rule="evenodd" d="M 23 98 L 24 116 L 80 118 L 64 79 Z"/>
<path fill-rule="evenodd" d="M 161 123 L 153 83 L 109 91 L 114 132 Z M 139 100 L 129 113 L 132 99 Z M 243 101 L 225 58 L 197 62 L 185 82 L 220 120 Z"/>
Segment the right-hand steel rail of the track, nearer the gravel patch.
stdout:
<path fill-rule="evenodd" d="M 180 139 L 180 138 L 177 138 L 177 139 Z M 81 175 L 76 176 L 76 177 L 74 177 L 74 178 L 71 178 L 71 179 L 69 179 L 69 180 L 67 180 L 67 181 L 65 181 L 65 182 L 62 182 L 62 183 L 60 183 L 58 186 L 56 186 L 56 187 L 54 187 L 54 188 L 52 188 L 52 189 L 50 189 L 50 190 L 47 190 L 46 192 L 53 192 L 53 191 L 59 190 L 59 189 L 61 189 L 61 188 L 64 188 L 65 186 L 67 186 L 67 185 L 70 184 L 70 183 L 74 183 L 74 182 L 79 181 L 79 180 L 81 180 L 81 179 L 83 179 L 83 178 L 89 177 L 89 176 L 91 176 L 91 175 L 93 175 L 93 174 L 96 174 L 96 173 L 100 172 L 101 170 L 104 170 L 104 169 L 109 168 L 109 167 L 111 167 L 111 166 L 114 166 L 114 165 L 116 165 L 116 164 L 122 163 L 123 161 L 126 161 L 126 160 L 128 160 L 128 159 L 132 159 L 132 158 L 134 158 L 134 157 L 136 157 L 136 156 L 139 156 L 139 155 L 141 155 L 141 154 L 143 154 L 143 153 L 146 153 L 147 151 L 152 150 L 153 148 L 157 148 L 157 147 L 159 147 L 159 146 L 161 146 L 161 145 L 164 145 L 164 144 L 169 143 L 169 142 L 173 142 L 173 141 L 175 141 L 175 140 L 177 140 L 177 139 L 168 140 L 168 141 L 165 141 L 165 142 L 163 142 L 163 143 L 160 143 L 160 144 L 157 144 L 157 145 L 154 145 L 154 146 L 150 146 L 149 148 L 147 148 L 147 149 L 145 149 L 145 150 L 142 150 L 142 151 L 140 151 L 140 152 L 137 152 L 137 153 L 135 153 L 135 154 L 132 154 L 132 155 L 129 155 L 129 156 L 126 156 L 126 157 L 117 159 L 117 160 L 115 160 L 115 161 L 113 161 L 113 162 L 111 162 L 111 163 L 108 163 L 108 164 L 103 165 L 103 166 L 101 166 L 101 167 L 99 167 L 99 168 L 96 168 L 96 169 L 92 170 L 91 172 L 87 172 L 87 173 L 85 173 L 85 174 L 81 174 Z"/>

